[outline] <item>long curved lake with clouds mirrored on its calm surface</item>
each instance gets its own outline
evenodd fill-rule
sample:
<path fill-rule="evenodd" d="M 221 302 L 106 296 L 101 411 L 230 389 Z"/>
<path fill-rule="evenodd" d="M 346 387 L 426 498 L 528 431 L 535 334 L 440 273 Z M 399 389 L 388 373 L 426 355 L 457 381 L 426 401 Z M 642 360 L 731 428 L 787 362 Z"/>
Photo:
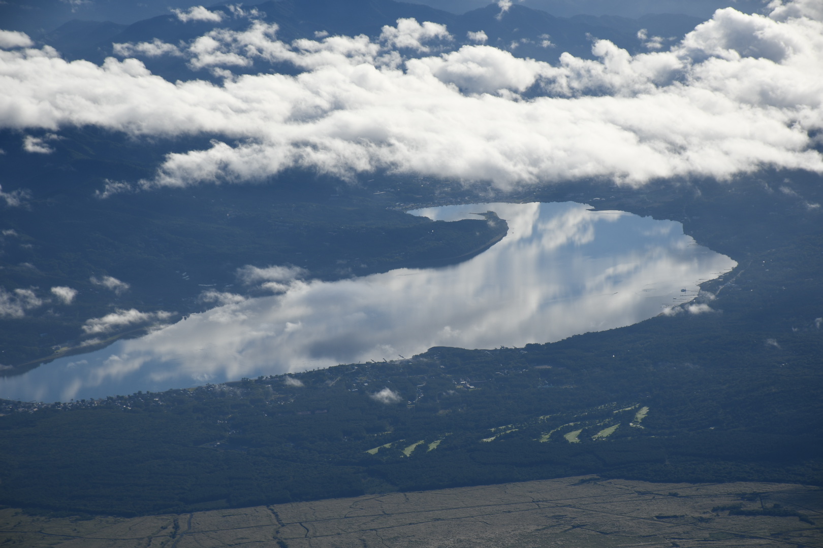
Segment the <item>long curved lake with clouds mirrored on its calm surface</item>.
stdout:
<path fill-rule="evenodd" d="M 495 211 L 509 233 L 460 265 L 337 282 L 280 280 L 271 297 L 218 306 L 142 338 L 0 378 L 0 398 L 101 398 L 394 360 L 433 346 L 554 342 L 658 315 L 737 265 L 697 246 L 681 223 L 589 207 L 492 203 L 412 211 L 445 221 Z"/>

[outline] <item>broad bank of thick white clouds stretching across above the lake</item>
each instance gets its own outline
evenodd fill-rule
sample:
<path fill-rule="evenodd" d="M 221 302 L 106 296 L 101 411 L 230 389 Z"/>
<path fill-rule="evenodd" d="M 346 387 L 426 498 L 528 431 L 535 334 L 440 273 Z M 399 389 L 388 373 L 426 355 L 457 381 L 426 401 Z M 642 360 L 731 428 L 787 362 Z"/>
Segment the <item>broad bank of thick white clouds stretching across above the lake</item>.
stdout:
<path fill-rule="evenodd" d="M 223 76 L 219 85 L 165 81 L 136 58 L 66 62 L 3 35 L 10 49 L 0 51 L 0 126 L 215 137 L 207 150 L 169 154 L 144 187 L 259 182 L 293 167 L 501 188 L 587 177 L 635 186 L 725 179 L 764 166 L 823 173 L 814 137 L 823 129 L 821 10 L 810 0 L 770 6 L 770 16 L 718 10 L 667 50 L 632 56 L 597 40 L 597 60 L 564 53 L 556 66 L 486 45 L 454 50 L 443 25 L 412 19 L 374 40 L 286 44 L 277 25 L 251 21 L 184 44 L 115 48 L 180 56 Z M 300 73 L 230 72 L 261 63 Z"/>

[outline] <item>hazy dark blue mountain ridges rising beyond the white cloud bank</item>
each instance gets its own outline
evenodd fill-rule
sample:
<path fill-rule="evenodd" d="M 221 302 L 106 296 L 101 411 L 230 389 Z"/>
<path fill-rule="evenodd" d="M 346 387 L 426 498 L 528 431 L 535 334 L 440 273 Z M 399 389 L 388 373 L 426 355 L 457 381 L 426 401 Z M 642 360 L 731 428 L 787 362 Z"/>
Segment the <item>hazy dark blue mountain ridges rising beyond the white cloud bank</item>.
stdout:
<path fill-rule="evenodd" d="M 252 8 L 261 13 L 263 21 L 277 23 L 277 36 L 286 42 L 298 38 L 314 39 L 315 33 L 321 31 L 331 35 L 363 34 L 374 37 L 380 34 L 384 25 L 395 25 L 401 17 L 413 17 L 418 21 L 446 25 L 454 37 L 453 48 L 476 44 L 477 41 L 468 39 L 467 33 L 482 30 L 487 37 L 486 44 L 506 49 L 518 57 L 546 62 L 557 62 L 563 52 L 591 58 L 593 39 L 609 39 L 631 53 L 647 51 L 638 37 L 640 30 L 645 30 L 649 36 L 662 37 L 665 46 L 693 30 L 702 21 L 699 17 L 673 14 L 645 15 L 636 19 L 590 15 L 558 17 L 519 4 L 502 12 L 495 3 L 457 15 L 421 4 L 393 0 L 281 0 L 244 7 L 247 11 Z M 248 18 L 230 16 L 230 9 L 226 6 L 212 7 L 212 11 L 223 12 L 226 16 L 222 21 L 184 23 L 177 15 L 170 13 L 131 25 L 74 19 L 42 35 L 41 39 L 57 48 L 64 58 L 101 62 L 113 54 L 113 43 L 160 39 L 178 44 L 215 28 L 239 30 L 249 25 Z M 179 58 L 144 59 L 144 62 L 152 71 L 174 79 L 184 77 L 188 71 Z M 198 73 L 198 77 L 204 75 Z"/>

